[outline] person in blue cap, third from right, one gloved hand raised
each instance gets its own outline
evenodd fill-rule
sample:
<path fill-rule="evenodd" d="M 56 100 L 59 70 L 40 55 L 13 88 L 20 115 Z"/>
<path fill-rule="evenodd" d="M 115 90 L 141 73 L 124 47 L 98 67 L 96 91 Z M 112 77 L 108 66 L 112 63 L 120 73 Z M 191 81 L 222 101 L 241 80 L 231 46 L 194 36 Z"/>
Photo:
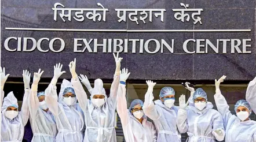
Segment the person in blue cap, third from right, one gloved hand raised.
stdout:
<path fill-rule="evenodd" d="M 153 87 L 156 83 L 146 81 L 148 91 L 145 94 L 145 102 L 143 111 L 147 117 L 153 120 L 156 131 L 158 132 L 157 141 L 175 142 L 181 141 L 181 135 L 177 128 L 177 112 L 178 107 L 174 106 L 175 91 L 171 87 L 164 87 L 160 91 L 160 100 L 153 103 Z"/>

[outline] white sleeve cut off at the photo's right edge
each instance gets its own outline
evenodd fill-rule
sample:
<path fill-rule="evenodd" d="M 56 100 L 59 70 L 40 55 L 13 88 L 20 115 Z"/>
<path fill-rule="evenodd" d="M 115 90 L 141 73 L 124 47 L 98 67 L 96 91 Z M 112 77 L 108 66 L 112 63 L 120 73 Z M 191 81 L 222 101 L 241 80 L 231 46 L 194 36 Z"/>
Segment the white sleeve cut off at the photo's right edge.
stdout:
<path fill-rule="evenodd" d="M 246 100 L 251 109 L 256 113 L 256 77 L 250 81 L 246 90 Z"/>

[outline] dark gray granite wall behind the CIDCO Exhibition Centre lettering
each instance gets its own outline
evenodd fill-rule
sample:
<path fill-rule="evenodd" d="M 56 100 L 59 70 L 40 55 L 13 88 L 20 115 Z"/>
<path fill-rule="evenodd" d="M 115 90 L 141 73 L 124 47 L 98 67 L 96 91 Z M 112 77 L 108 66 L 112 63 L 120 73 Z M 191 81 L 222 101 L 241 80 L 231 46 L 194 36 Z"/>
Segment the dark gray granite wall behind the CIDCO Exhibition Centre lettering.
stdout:
<path fill-rule="evenodd" d="M 100 2 L 107 12 L 106 22 L 85 20 L 83 22 L 53 20 L 54 3 L 60 2 L 65 8 L 98 8 Z M 202 25 L 193 24 L 193 20 L 182 23 L 174 18 L 172 9 L 181 9 L 180 3 L 189 4 L 189 8 L 202 8 Z M 174 39 L 174 53 L 164 50 L 156 54 L 121 53 L 123 57 L 122 68 L 128 68 L 131 72 L 130 79 L 163 79 L 163 80 L 213 80 L 223 74 L 228 80 L 251 80 L 256 75 L 255 56 L 255 0 L 13 0 L 1 1 L 1 66 L 5 66 L 10 77 L 22 77 L 22 70 L 28 69 L 35 72 L 39 68 L 45 70 L 43 77 L 53 76 L 54 64 L 61 62 L 67 72 L 63 78 L 71 77 L 68 63 L 76 58 L 77 72 L 86 74 L 90 79 L 111 79 L 115 72 L 115 62 L 112 53 L 74 53 L 74 38 L 86 39 L 164 39 L 171 42 Z M 143 24 L 119 23 L 116 16 L 116 8 L 148 8 L 166 9 L 164 23 L 160 18 L 153 16 L 152 23 Z M 64 31 L 13 31 L 13 28 L 70 28 L 70 29 L 251 29 L 251 32 L 64 32 Z M 3 47 L 8 37 L 61 38 L 65 40 L 65 49 L 61 53 L 41 53 L 38 50 L 32 52 L 7 51 Z M 230 48 L 227 54 L 215 54 L 209 50 L 208 54 L 187 54 L 182 49 L 182 44 L 187 39 L 209 39 L 216 44 L 217 39 L 251 39 L 250 54 L 231 54 Z M 56 43 L 59 44 L 59 43 Z M 28 43 L 31 46 L 31 43 Z M 47 49 L 48 44 L 43 43 L 42 48 Z M 228 43 L 227 47 L 230 47 Z M 17 42 L 9 42 L 9 47 L 17 47 Z M 128 44 L 131 47 L 131 43 Z M 154 48 L 149 44 L 149 49 Z M 189 43 L 188 49 L 193 50 L 195 43 Z M 222 51 L 222 47 L 219 48 Z"/>

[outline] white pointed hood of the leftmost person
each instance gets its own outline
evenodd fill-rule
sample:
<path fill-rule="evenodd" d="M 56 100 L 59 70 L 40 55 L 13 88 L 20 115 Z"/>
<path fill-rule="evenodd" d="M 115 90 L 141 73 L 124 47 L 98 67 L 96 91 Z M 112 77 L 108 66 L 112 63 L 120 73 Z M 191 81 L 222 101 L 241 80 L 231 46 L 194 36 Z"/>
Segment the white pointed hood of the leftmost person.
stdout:
<path fill-rule="evenodd" d="M 18 100 L 16 99 L 16 97 L 14 96 L 13 92 L 9 92 L 9 94 L 3 99 L 3 105 L 2 105 L 2 113 L 4 111 L 6 111 L 6 109 L 9 106 L 13 106 L 18 108 Z"/>

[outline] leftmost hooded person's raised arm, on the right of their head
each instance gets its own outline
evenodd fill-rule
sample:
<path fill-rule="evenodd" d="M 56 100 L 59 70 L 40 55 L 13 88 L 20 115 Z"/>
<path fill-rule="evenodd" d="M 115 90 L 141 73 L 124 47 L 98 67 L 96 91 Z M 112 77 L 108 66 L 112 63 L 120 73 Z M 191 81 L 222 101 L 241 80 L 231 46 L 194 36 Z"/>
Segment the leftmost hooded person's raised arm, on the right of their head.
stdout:
<path fill-rule="evenodd" d="M 30 72 L 28 70 L 23 70 L 23 82 L 24 82 L 24 96 L 23 102 L 21 106 L 21 118 L 23 121 L 23 125 L 25 126 L 28 122 L 28 118 L 30 118 L 30 111 L 28 109 L 28 98 L 30 94 Z"/>

